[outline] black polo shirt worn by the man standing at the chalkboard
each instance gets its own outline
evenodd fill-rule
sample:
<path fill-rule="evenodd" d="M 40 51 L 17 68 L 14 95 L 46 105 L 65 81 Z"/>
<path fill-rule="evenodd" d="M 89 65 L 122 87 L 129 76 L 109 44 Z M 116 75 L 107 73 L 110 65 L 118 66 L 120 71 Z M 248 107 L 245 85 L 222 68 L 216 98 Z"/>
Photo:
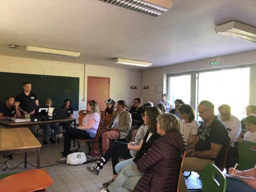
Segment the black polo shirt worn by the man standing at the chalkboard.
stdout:
<path fill-rule="evenodd" d="M 34 93 L 29 93 L 29 95 L 26 95 L 24 92 L 20 93 L 16 96 L 15 101 L 20 102 L 19 107 L 26 111 L 27 113 L 30 113 L 35 108 L 35 101 L 38 100 L 37 96 Z"/>

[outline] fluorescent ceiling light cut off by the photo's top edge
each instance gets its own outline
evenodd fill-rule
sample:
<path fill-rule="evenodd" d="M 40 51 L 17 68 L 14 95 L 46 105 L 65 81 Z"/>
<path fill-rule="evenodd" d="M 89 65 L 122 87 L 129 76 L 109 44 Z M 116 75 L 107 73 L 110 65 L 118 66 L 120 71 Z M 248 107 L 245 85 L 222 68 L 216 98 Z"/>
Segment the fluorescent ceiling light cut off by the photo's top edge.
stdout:
<path fill-rule="evenodd" d="M 112 5 L 117 5 L 126 9 L 144 13 L 147 15 L 158 16 L 168 11 L 173 6 L 172 0 L 99 0 Z"/>

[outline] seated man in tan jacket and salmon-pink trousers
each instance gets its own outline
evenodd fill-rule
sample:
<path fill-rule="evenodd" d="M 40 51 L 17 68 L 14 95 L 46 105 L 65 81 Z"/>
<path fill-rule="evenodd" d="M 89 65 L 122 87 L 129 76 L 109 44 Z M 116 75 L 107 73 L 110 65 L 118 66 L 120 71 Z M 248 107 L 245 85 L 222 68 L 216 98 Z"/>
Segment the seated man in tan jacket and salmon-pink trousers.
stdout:
<path fill-rule="evenodd" d="M 125 105 L 124 100 L 117 101 L 117 112 L 113 115 L 110 125 L 106 126 L 106 129 L 99 130 L 99 137 L 102 137 L 102 156 L 108 150 L 109 139 L 123 139 L 131 128 L 132 116 L 125 110 Z M 99 142 L 93 142 L 93 152 L 86 156 L 99 156 Z"/>

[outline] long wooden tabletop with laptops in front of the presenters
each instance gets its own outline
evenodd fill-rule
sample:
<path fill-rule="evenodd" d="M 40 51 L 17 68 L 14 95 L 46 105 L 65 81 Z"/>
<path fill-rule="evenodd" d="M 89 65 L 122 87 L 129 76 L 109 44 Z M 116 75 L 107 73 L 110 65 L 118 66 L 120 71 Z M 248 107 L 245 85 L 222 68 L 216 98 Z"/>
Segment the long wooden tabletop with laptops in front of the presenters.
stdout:
<path fill-rule="evenodd" d="M 29 125 L 42 125 L 48 123 L 65 123 L 65 122 L 74 122 L 74 126 L 76 128 L 76 119 L 74 118 L 67 118 L 67 119 L 56 119 L 56 120 L 49 120 L 49 121 L 30 121 L 30 122 L 22 122 L 22 123 L 14 123 L 12 121 L 0 121 L 0 125 L 4 125 L 7 128 L 14 128 L 14 127 L 26 127 Z"/>

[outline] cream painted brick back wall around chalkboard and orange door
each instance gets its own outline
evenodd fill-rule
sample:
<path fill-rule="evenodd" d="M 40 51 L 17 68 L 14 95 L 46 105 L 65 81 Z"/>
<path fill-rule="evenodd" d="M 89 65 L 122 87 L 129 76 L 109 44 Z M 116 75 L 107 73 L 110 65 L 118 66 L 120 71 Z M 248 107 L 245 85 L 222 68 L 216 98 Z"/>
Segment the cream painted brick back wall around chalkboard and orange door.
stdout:
<path fill-rule="evenodd" d="M 110 97 L 116 101 L 125 100 L 128 106 L 132 104 L 134 98 L 141 95 L 142 72 L 139 70 L 0 55 L 0 72 L 79 77 L 79 110 L 86 109 L 87 76 L 110 77 Z M 130 86 L 138 86 L 139 89 L 130 89 Z M 85 101 L 83 101 L 84 96 Z M 74 118 L 78 118 L 78 112 L 74 112 Z"/>

